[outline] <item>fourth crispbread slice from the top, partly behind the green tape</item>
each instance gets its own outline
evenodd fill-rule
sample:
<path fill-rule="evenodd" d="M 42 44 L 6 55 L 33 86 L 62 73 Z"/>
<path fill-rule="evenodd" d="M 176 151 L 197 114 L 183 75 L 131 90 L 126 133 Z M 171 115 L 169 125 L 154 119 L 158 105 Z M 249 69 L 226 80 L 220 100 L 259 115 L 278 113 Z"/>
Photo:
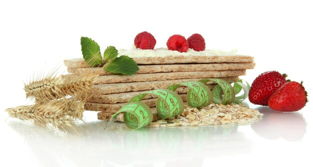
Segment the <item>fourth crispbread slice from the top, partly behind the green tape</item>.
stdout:
<path fill-rule="evenodd" d="M 237 81 L 238 76 L 230 77 L 218 77 L 225 81 Z M 172 84 L 187 82 L 187 81 L 198 81 L 201 78 L 195 79 L 176 79 L 176 80 L 167 80 L 167 81 L 149 81 L 149 82 L 131 82 L 131 83 L 112 83 L 112 84 L 99 84 L 93 85 L 92 91 L 94 95 L 106 95 L 112 93 L 122 93 L 130 91 L 143 91 L 143 90 L 152 90 L 159 88 L 166 88 Z M 209 81 L 206 84 L 212 84 L 213 82 Z"/>

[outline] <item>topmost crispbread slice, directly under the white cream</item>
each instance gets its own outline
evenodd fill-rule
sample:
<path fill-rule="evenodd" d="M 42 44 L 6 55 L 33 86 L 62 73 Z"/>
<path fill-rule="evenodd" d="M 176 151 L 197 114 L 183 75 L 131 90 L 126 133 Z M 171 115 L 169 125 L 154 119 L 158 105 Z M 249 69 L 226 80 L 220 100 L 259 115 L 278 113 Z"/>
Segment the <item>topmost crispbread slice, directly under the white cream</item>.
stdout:
<path fill-rule="evenodd" d="M 137 64 L 184 64 L 184 63 L 249 63 L 253 62 L 252 56 L 166 56 L 166 57 L 132 57 Z M 82 58 L 66 59 L 67 67 L 89 67 Z"/>

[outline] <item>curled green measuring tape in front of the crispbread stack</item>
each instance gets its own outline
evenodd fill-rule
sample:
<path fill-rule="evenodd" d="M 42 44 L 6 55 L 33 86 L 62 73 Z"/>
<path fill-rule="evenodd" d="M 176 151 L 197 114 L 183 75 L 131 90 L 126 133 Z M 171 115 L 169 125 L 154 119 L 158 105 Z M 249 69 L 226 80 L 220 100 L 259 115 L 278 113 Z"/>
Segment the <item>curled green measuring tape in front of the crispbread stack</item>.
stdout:
<path fill-rule="evenodd" d="M 213 81 L 217 84 L 212 91 L 210 91 L 205 85 L 208 81 Z M 200 108 L 205 107 L 212 102 L 224 105 L 242 102 L 248 97 L 250 89 L 250 86 L 246 81 L 245 84 L 243 84 L 242 80 L 238 80 L 238 82 L 234 82 L 233 86 L 231 86 L 230 83 L 222 79 L 209 78 L 174 84 L 166 89 L 147 91 L 134 96 L 111 117 L 107 126 L 116 120 L 115 117 L 119 113 L 123 113 L 124 123 L 130 129 L 138 129 L 150 124 L 153 119 L 152 111 L 149 106 L 141 102 L 147 94 L 153 94 L 158 97 L 156 102 L 157 114 L 160 118 L 166 119 L 180 115 L 184 110 L 183 101 L 175 92 L 180 86 L 187 86 L 189 88 L 187 93 L 188 105 Z M 241 92 L 241 90 L 243 90 L 243 94 L 236 97 L 235 95 Z"/>

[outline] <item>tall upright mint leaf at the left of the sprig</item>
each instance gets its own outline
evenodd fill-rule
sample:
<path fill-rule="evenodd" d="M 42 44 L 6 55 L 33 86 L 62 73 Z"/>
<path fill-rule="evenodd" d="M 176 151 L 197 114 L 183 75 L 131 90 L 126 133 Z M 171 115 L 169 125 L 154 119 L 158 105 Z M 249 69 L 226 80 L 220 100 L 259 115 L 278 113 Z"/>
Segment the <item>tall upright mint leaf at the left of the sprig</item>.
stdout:
<path fill-rule="evenodd" d="M 102 62 L 100 46 L 91 38 L 80 38 L 81 53 L 83 59 L 90 66 L 98 66 Z"/>

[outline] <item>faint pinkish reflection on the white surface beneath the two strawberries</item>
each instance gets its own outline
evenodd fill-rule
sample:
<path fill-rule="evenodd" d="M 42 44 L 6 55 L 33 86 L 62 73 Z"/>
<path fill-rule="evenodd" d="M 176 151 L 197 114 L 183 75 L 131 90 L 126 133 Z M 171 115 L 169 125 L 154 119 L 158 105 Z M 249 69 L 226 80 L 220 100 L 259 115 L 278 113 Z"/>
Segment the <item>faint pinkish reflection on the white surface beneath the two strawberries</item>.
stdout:
<path fill-rule="evenodd" d="M 296 142 L 303 138 L 306 132 L 306 122 L 299 112 L 278 112 L 268 107 L 256 108 L 263 113 L 263 118 L 252 124 L 253 131 L 269 140 L 282 138 Z"/>

